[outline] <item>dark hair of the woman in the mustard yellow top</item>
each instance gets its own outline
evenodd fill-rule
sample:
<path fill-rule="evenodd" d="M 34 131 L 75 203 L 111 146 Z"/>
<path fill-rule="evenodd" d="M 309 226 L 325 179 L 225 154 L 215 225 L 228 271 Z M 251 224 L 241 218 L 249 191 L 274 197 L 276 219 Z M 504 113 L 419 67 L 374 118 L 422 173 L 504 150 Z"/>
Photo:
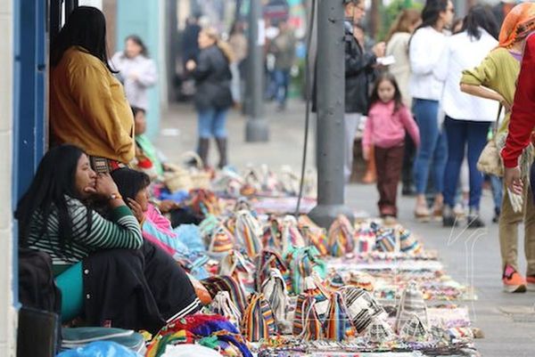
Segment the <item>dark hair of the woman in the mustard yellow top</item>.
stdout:
<path fill-rule="evenodd" d="M 91 6 L 79 6 L 70 12 L 67 23 L 53 40 L 52 67 L 57 66 L 62 61 L 63 53 L 75 45 L 83 47 L 87 53 L 102 61 L 112 73 L 117 73 L 108 63 L 106 19 L 103 12 Z"/>

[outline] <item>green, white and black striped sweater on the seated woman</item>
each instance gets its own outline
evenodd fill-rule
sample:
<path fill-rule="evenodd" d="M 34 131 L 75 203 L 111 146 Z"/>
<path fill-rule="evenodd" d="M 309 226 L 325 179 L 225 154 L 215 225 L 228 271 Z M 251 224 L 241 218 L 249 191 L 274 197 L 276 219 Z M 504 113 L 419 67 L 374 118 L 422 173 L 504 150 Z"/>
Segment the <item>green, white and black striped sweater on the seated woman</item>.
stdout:
<path fill-rule="evenodd" d="M 43 227 L 43 217 L 37 212 L 29 230 L 29 247 L 48 253 L 54 264 L 76 263 L 92 252 L 126 248 L 139 249 L 143 245 L 143 237 L 136 217 L 126 206 L 116 207 L 111 211 L 111 220 L 92 212 L 91 230 L 87 231 L 87 207 L 78 199 L 68 198 L 68 207 L 72 219 L 72 242 L 62 252 L 69 262 L 64 262 L 57 255 L 59 245 L 59 221 L 57 212 L 52 211 L 48 217 L 47 230 L 42 237 L 38 234 Z"/>

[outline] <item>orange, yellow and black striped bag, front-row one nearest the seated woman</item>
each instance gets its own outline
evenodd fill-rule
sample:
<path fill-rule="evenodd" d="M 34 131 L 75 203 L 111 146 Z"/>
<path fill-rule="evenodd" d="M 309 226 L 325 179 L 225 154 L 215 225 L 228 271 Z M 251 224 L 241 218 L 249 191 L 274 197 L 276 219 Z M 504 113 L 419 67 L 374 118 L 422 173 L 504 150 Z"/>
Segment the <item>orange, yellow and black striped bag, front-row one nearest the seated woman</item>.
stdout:
<path fill-rule="evenodd" d="M 250 342 L 258 342 L 276 335 L 276 321 L 263 294 L 251 296 L 243 313 L 242 333 Z"/>

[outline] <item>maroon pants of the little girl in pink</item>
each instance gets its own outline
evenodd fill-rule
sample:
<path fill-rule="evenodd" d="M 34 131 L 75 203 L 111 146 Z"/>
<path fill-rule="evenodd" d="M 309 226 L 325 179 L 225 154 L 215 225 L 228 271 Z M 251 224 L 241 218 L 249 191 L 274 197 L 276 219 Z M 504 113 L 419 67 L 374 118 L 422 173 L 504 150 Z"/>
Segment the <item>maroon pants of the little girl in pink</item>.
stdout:
<path fill-rule="evenodd" d="M 404 146 L 380 148 L 375 146 L 375 166 L 377 169 L 377 191 L 379 191 L 379 212 L 381 215 L 398 216 L 396 199 L 403 166 Z"/>

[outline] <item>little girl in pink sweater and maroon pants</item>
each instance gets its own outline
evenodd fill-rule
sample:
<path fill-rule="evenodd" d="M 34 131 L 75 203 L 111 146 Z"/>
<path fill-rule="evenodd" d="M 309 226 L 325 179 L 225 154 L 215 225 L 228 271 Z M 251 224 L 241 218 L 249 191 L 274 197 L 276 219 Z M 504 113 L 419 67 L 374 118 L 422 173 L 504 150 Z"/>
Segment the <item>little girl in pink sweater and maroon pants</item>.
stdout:
<path fill-rule="evenodd" d="M 379 213 L 386 220 L 398 216 L 396 201 L 406 133 L 417 147 L 420 144 L 418 126 L 401 99 L 396 78 L 384 73 L 374 85 L 362 152 L 364 158 L 369 159 L 370 148 L 374 145 Z"/>

